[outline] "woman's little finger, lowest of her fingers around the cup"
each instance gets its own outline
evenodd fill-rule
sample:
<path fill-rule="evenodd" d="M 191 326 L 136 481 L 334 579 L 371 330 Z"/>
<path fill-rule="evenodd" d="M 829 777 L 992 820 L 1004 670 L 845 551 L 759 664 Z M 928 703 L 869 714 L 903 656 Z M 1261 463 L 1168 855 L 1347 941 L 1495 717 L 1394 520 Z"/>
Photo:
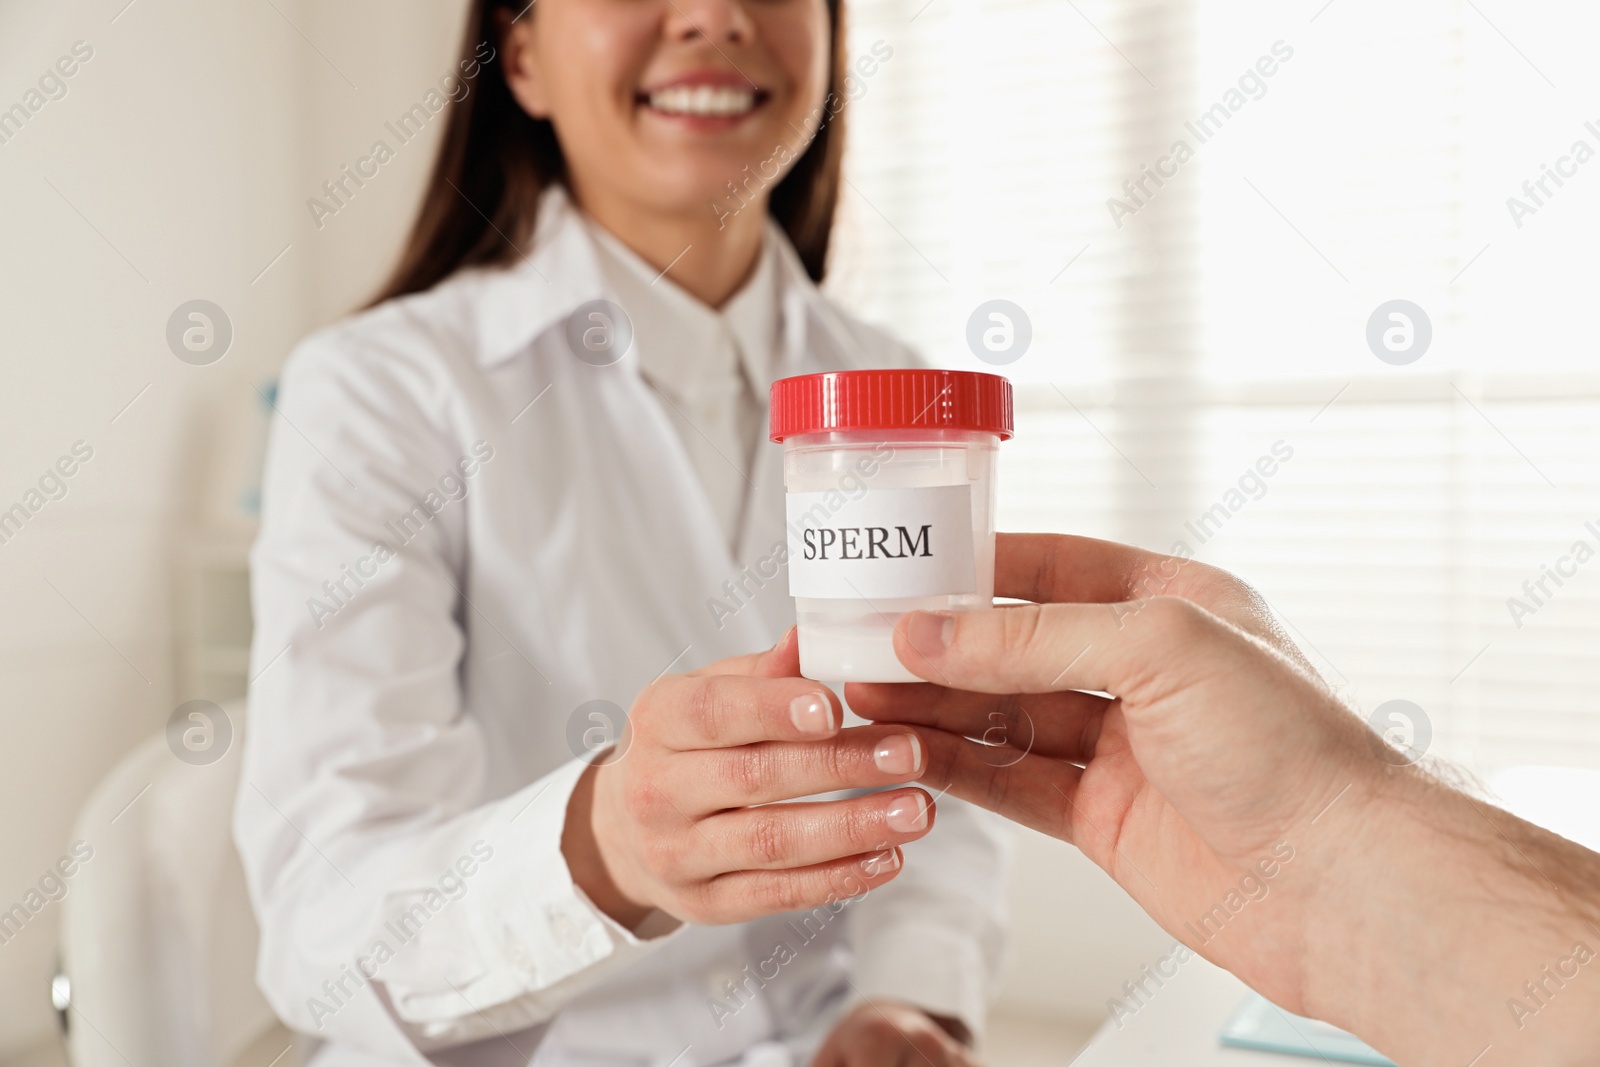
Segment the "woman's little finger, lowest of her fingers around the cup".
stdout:
<path fill-rule="evenodd" d="M 811 912 L 808 928 L 824 920 L 827 907 L 838 921 L 845 902 L 894 878 L 902 857 L 898 848 L 850 856 L 787 870 L 733 870 L 702 883 L 686 917 L 691 923 L 746 923 L 778 912 Z"/>

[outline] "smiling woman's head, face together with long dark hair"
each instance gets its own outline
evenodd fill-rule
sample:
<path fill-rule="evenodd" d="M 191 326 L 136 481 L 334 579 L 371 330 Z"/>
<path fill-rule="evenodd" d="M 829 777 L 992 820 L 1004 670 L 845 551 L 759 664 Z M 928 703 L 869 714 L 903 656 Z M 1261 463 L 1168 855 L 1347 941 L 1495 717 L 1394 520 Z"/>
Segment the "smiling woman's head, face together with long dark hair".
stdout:
<path fill-rule="evenodd" d="M 574 38 L 560 32 L 558 26 L 541 34 L 542 27 L 562 19 L 592 18 L 586 14 L 592 10 L 586 5 L 546 5 L 534 18 L 514 0 L 475 0 L 469 14 L 474 32 L 467 35 L 461 58 L 469 61 L 485 43 L 493 45 L 504 37 L 506 77 L 485 78 L 482 91 L 451 112 L 422 197 L 422 211 L 374 306 L 427 290 L 459 267 L 514 262 L 520 253 L 509 235 L 531 232 L 539 194 L 574 173 L 595 176 L 576 192 L 602 221 L 611 213 L 629 211 L 626 198 L 614 194 L 614 187 L 624 182 L 651 187 L 658 203 L 706 213 L 706 205 L 726 197 L 728 182 L 741 181 L 752 162 L 773 157 L 778 146 L 790 146 L 797 158 L 771 189 L 770 213 L 789 235 L 811 280 L 822 280 L 838 198 L 845 128 L 842 115 L 834 117 L 837 110 L 824 115 L 818 101 L 845 99 L 845 13 L 840 0 L 730 6 L 730 18 L 736 19 L 808 22 L 810 34 L 786 32 L 794 27 L 782 24 L 770 27 L 773 34 L 768 38 L 787 42 L 787 46 L 778 50 L 762 69 L 733 66 L 715 53 L 722 69 L 704 64 L 645 69 L 638 54 L 640 27 L 648 26 L 645 18 L 637 26 L 616 21 L 611 30 L 578 34 L 576 40 L 595 53 L 584 62 L 573 62 L 574 56 L 555 62 L 555 56 L 541 53 L 541 42 L 549 50 L 552 42 Z M 690 16 L 678 13 L 675 18 L 682 26 L 674 32 L 701 32 Z M 830 48 L 811 43 L 822 40 L 830 42 Z M 586 99 L 589 78 L 578 77 L 578 72 L 589 69 L 590 62 L 608 72 L 611 85 L 608 91 Z M 552 107 L 560 104 L 566 114 L 568 102 L 573 117 L 563 130 L 557 130 Z M 715 115 L 709 114 L 714 110 Z M 750 122 L 752 117 L 755 122 Z M 694 141 L 690 150 L 683 134 L 704 130 L 731 136 L 722 139 L 717 152 L 707 152 L 702 139 Z M 579 163 L 576 171 L 571 166 L 574 162 Z M 640 181 L 642 176 L 648 178 Z M 760 219 L 754 222 L 746 229 L 758 232 Z M 701 227 L 690 222 L 686 229 Z M 680 248 L 683 243 L 666 251 L 662 262 Z M 723 285 L 731 288 L 726 282 Z"/>

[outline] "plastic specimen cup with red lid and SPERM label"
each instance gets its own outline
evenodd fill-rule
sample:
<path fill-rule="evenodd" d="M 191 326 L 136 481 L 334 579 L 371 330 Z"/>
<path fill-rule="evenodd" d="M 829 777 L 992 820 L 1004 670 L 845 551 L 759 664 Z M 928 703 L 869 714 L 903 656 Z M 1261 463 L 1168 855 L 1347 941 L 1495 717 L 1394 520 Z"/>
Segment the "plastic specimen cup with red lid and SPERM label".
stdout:
<path fill-rule="evenodd" d="M 995 458 L 1011 432 L 1011 382 L 998 374 L 834 371 L 773 382 L 800 673 L 920 681 L 894 656 L 894 622 L 994 601 Z"/>

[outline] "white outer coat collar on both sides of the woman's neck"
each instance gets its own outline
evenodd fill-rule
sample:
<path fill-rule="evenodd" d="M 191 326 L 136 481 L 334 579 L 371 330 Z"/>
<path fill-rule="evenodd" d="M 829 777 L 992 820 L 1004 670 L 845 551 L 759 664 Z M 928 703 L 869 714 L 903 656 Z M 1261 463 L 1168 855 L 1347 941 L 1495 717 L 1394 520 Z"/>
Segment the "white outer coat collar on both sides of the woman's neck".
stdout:
<path fill-rule="evenodd" d="M 477 355 L 485 368 L 526 350 L 534 338 L 562 323 L 581 304 L 616 299 L 600 269 L 594 237 L 562 186 L 550 186 L 539 197 L 531 240 L 531 251 L 510 267 L 475 269 L 483 278 L 483 296 L 477 302 Z M 822 296 L 806 275 L 787 234 L 770 218 L 766 245 L 776 251 L 782 323 L 778 365 L 771 370 L 782 378 L 798 373 L 806 320 Z"/>

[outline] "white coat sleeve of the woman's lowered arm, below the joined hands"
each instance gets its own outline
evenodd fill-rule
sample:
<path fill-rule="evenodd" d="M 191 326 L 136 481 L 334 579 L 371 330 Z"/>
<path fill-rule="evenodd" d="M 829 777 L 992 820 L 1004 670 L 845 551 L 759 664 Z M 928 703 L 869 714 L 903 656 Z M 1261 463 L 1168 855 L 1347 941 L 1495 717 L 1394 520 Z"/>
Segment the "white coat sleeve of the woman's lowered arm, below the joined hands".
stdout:
<path fill-rule="evenodd" d="M 850 909 L 851 998 L 899 1000 L 984 1032 L 1005 960 L 1011 827 L 941 797 L 899 877 Z"/>

